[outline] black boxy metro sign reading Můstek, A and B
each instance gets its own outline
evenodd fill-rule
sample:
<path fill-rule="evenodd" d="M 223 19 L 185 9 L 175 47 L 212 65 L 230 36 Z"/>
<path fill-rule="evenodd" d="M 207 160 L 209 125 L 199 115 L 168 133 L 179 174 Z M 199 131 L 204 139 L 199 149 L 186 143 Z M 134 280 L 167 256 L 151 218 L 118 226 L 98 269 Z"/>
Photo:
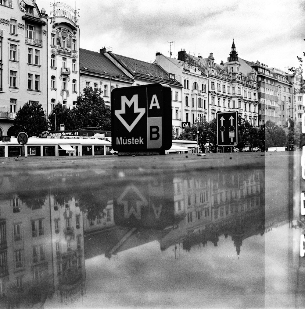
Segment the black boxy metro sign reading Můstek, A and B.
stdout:
<path fill-rule="evenodd" d="M 160 151 L 172 146 L 172 91 L 150 84 L 111 92 L 111 140 L 116 151 Z"/>

